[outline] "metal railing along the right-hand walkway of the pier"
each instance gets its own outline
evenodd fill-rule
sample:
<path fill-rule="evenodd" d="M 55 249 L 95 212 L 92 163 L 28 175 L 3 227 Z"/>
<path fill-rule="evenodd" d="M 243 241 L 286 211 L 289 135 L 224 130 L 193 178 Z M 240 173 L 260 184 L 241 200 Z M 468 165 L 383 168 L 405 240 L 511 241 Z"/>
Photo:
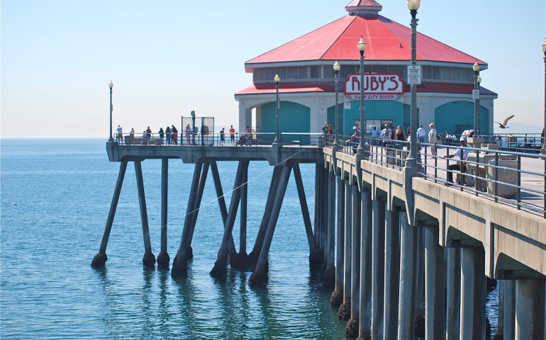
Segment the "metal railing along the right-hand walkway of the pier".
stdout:
<path fill-rule="evenodd" d="M 332 144 L 333 140 L 327 147 Z M 357 144 L 350 136 L 340 136 L 338 152 L 356 154 Z M 466 161 L 445 158 L 460 148 L 419 143 L 419 176 L 546 218 L 546 155 L 465 147 Z M 364 157 L 369 162 L 402 170 L 408 154 L 407 141 L 364 137 Z"/>

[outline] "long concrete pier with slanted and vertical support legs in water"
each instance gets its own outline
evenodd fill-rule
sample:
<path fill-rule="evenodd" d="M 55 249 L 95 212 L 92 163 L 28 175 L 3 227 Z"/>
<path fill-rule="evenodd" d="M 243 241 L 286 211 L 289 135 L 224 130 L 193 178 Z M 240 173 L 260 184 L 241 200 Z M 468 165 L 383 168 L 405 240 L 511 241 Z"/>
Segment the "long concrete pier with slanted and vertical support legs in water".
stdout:
<path fill-rule="evenodd" d="M 316 140 L 316 139 L 310 139 Z M 224 223 L 218 258 L 211 275 L 251 268 L 250 285 L 267 284 L 267 257 L 289 177 L 294 176 L 309 246 L 310 265 L 321 270 L 338 317 L 347 321 L 346 336 L 359 339 L 413 339 L 423 327 L 427 339 L 486 339 L 486 280 L 500 284 L 498 333 L 503 339 L 544 339 L 546 158 L 496 149 L 472 149 L 474 173 L 456 173 L 446 181 L 450 146 L 433 156 L 420 148 L 416 174 L 404 166 L 400 145 L 366 141 L 366 152 L 317 145 L 120 145 L 106 143 L 108 159 L 120 170 L 99 252 L 91 266 L 106 263 L 106 246 L 129 162 L 135 166 L 143 227 L 143 264 L 155 266 L 140 163 L 161 159 L 161 249 L 157 265 L 169 268 L 167 254 L 167 164 L 193 164 L 184 229 L 171 266 L 184 277 L 199 215 L 204 184 L 212 174 L 218 211 Z M 481 160 L 480 160 L 481 159 Z M 492 161 L 491 161 L 492 159 Z M 501 159 L 512 159 L 510 167 Z M 218 162 L 236 161 L 238 171 L 230 203 L 223 198 Z M 247 169 L 254 161 L 274 166 L 267 203 L 252 248 L 247 248 Z M 315 192 L 303 191 L 299 164 L 316 164 Z M 473 163 L 473 164 L 472 164 Z M 184 165 L 186 166 L 186 165 Z M 491 176 L 484 176 L 480 167 Z M 489 171 L 489 172 L 487 172 Z M 517 179 L 504 179 L 512 171 Z M 412 176 L 409 176 L 412 175 Z M 463 180 L 464 179 L 464 180 Z M 486 182 L 486 183 L 483 183 Z M 232 185 L 232 183 L 229 183 Z M 447 184 L 447 186 L 446 186 Z M 484 186 L 486 189 L 484 190 Z M 514 195 L 503 192 L 513 188 Z M 502 190 L 501 190 L 502 189 Z M 252 194 L 252 193 L 251 193 Z M 306 197 L 314 194 L 315 214 Z M 240 205 L 240 210 L 239 210 Z M 240 244 L 233 242 L 240 212 Z M 250 253 L 247 253 L 247 249 Z M 340 334 L 341 335 L 341 334 Z"/>

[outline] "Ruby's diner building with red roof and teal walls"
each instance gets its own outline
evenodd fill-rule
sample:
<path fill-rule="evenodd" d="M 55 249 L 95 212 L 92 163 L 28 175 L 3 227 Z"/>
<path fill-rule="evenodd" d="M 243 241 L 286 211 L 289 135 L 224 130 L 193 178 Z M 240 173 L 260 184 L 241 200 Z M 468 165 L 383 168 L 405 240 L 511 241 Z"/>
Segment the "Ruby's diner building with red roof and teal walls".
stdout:
<path fill-rule="evenodd" d="M 364 107 L 366 133 L 384 124 L 410 126 L 410 86 L 406 84 L 411 60 L 411 28 L 379 15 L 374 0 L 353 0 L 348 12 L 332 23 L 245 62 L 252 85 L 235 94 L 239 101 L 239 126 L 255 126 L 274 132 L 275 84 L 278 74 L 282 132 L 321 132 L 324 122 L 349 135 L 360 118 L 360 37 L 364 53 Z M 409 15 L 408 15 L 409 18 Z M 438 132 L 459 134 L 472 128 L 474 72 L 477 62 L 438 40 L 417 33 L 417 64 L 421 67 L 418 93 L 418 125 L 435 123 Z M 340 69 L 340 121 L 335 120 L 333 64 Z M 479 131 L 493 132 L 493 107 L 497 95 L 481 87 Z M 252 121 L 255 111 L 255 121 Z"/>

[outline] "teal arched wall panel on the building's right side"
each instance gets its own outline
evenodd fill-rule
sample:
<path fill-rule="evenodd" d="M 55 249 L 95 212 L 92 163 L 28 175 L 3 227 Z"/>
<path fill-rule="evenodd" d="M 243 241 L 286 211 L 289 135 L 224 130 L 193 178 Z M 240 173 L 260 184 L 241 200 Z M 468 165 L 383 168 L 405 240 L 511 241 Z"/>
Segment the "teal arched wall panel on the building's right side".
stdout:
<path fill-rule="evenodd" d="M 434 113 L 434 123 L 438 133 L 445 131 L 459 135 L 474 125 L 474 103 L 469 101 L 452 101 L 438 106 Z M 479 107 L 479 133 L 489 133 L 489 110 Z"/>

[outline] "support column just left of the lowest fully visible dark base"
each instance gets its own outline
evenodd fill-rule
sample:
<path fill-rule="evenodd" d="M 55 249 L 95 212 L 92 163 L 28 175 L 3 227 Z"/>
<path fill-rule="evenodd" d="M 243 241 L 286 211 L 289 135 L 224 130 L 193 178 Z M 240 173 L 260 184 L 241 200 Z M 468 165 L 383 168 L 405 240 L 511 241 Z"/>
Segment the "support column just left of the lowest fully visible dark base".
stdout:
<path fill-rule="evenodd" d="M 343 303 L 338 311 L 338 318 L 347 321 L 351 312 L 351 241 L 352 241 L 352 188 L 351 181 L 345 181 L 345 246 L 343 247 Z"/>

